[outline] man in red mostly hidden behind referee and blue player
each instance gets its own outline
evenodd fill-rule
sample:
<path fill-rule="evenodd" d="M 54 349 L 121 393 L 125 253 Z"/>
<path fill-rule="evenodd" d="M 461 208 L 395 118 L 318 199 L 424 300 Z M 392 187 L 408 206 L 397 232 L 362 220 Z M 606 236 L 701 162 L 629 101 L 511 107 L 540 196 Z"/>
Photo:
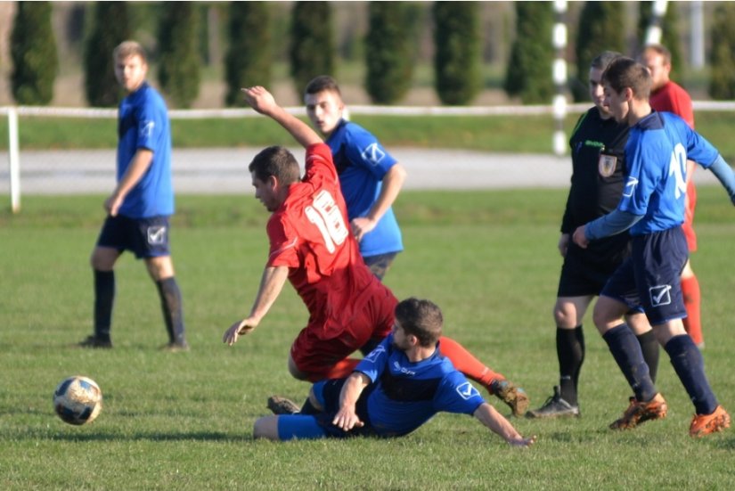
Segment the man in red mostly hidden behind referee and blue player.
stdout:
<path fill-rule="evenodd" d="M 650 106 L 659 111 L 673 112 L 694 128 L 694 110 L 691 97 L 682 86 L 669 78 L 671 73 L 671 53 L 662 45 L 647 45 L 641 54 L 641 63 L 648 67 L 653 85 L 651 86 Z M 687 238 L 690 253 L 697 250 L 697 234 L 694 233 L 694 208 L 697 205 L 697 188 L 692 176 L 697 166 L 691 160 L 687 162 L 687 194 L 684 208 L 684 224 L 682 230 Z M 690 261 L 682 271 L 682 293 L 687 316 L 683 319 L 684 328 L 694 340 L 698 348 L 704 348 L 702 324 L 699 317 L 699 281 L 691 269 Z"/>

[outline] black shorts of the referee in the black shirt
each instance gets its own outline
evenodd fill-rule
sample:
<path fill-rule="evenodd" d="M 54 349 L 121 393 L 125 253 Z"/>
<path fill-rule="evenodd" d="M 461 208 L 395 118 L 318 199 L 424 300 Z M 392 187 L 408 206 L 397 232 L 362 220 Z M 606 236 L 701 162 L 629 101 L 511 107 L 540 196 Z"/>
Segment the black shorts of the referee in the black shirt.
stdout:
<path fill-rule="evenodd" d="M 611 274 L 623 263 L 626 252 L 600 258 L 569 242 L 564 264 L 561 265 L 557 297 L 597 296 Z"/>

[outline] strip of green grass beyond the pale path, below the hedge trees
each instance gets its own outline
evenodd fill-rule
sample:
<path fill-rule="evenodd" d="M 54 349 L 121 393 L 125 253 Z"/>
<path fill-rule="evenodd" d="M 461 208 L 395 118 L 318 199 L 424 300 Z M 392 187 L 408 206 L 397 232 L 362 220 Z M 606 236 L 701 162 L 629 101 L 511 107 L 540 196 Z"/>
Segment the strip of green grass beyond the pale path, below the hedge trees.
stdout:
<path fill-rule="evenodd" d="M 371 128 L 388 148 L 397 145 L 427 148 L 520 153 L 551 153 L 554 123 L 549 116 L 365 116 L 356 123 Z M 567 134 L 577 115 L 565 121 Z M 21 118 L 20 149 L 49 150 L 114 148 L 114 119 Z M 727 160 L 735 160 L 735 125 L 731 112 L 697 114 L 697 129 L 717 146 Z M 293 144 L 290 136 L 265 118 L 176 119 L 172 121 L 176 148 L 237 147 Z M 7 135 L 7 120 L 0 119 L 0 135 Z M 7 138 L 0 138 L 0 150 Z"/>

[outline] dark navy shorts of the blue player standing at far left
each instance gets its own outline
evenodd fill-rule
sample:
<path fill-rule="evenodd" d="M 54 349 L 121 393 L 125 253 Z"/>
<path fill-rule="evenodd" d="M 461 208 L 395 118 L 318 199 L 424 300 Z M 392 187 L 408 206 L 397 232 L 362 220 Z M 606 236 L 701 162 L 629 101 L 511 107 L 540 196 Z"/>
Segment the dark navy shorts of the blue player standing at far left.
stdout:
<path fill-rule="evenodd" d="M 97 245 L 120 252 L 129 250 L 138 259 L 170 256 L 168 229 L 168 217 L 108 216 L 102 225 Z"/>

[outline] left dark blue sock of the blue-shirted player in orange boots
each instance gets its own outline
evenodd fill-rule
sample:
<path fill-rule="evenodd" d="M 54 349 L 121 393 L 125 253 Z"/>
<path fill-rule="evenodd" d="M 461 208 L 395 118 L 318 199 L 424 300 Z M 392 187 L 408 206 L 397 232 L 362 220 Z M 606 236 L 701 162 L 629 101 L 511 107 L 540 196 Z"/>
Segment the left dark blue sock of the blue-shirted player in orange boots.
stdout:
<path fill-rule="evenodd" d="M 610 353 L 633 389 L 635 398 L 639 401 L 649 401 L 655 397 L 656 386 L 650 380 L 649 365 L 643 359 L 641 344 L 633 331 L 622 323 L 605 332 L 602 339 L 608 343 Z"/>

